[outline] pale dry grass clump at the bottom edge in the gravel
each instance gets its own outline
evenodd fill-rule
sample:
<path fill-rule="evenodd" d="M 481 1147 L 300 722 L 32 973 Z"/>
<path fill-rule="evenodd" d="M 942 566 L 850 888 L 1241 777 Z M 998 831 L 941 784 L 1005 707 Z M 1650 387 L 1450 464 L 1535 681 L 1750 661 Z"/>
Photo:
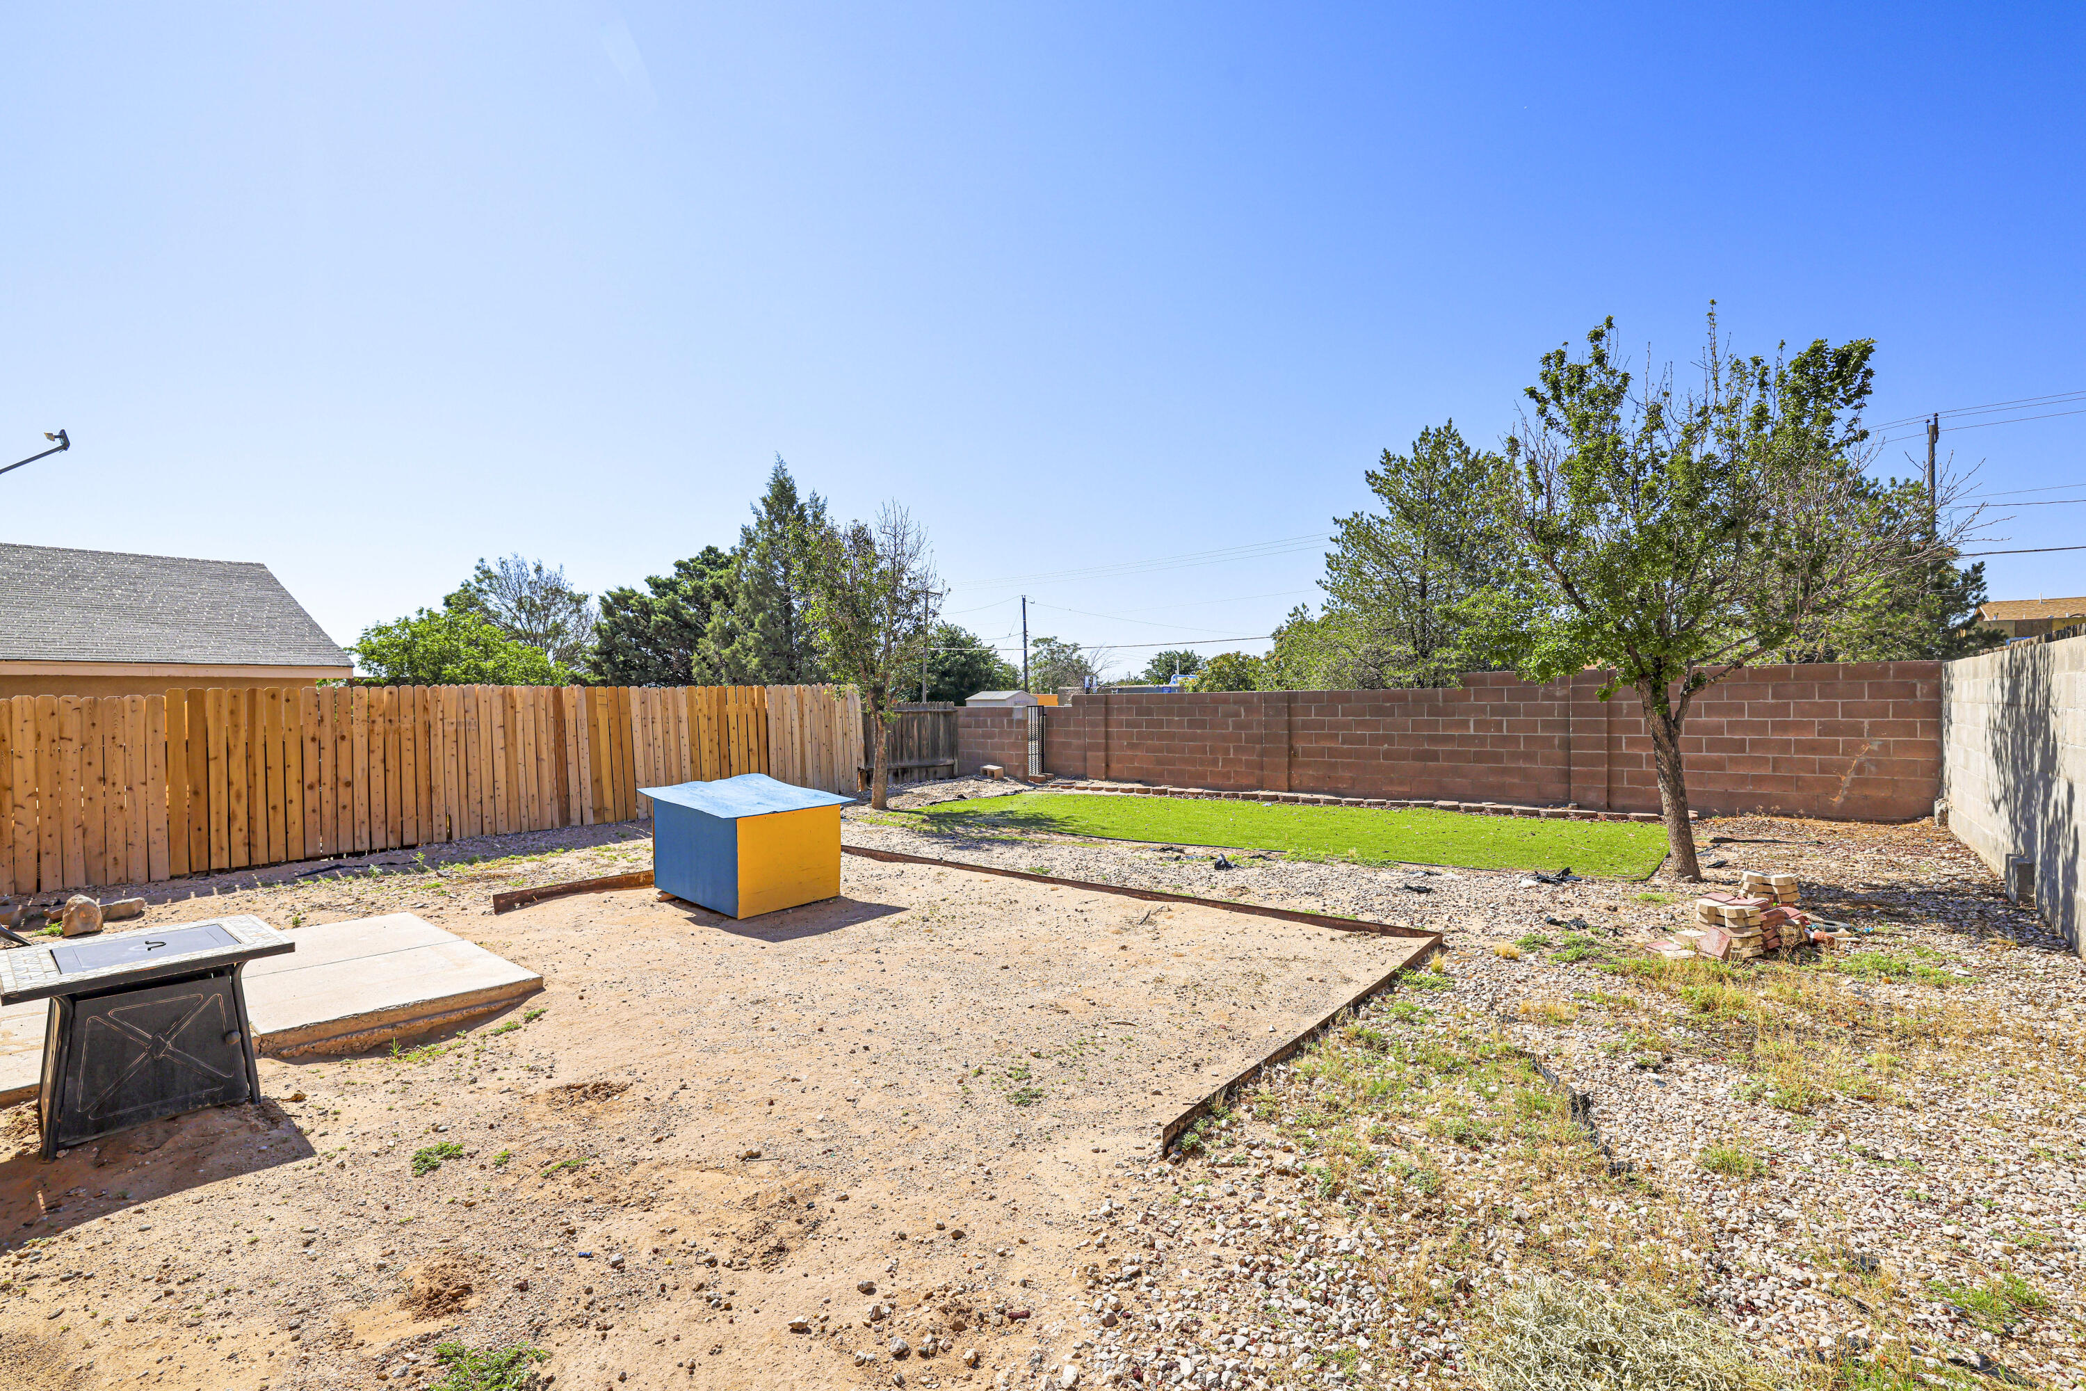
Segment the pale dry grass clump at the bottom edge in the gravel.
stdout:
<path fill-rule="evenodd" d="M 1771 1385 L 1721 1324 L 1656 1295 L 1577 1280 L 1506 1291 L 1471 1341 L 1487 1391 L 1754 1391 Z"/>

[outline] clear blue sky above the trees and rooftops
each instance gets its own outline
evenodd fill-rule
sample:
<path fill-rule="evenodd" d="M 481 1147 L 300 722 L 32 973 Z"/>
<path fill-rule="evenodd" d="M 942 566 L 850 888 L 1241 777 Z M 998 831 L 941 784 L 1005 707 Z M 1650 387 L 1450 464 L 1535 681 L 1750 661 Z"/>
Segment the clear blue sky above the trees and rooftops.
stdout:
<path fill-rule="evenodd" d="M 1316 546 L 987 582 L 1323 534 L 1608 313 L 1683 363 L 1711 298 L 1746 350 L 1875 338 L 1875 419 L 2086 388 L 2082 29 L 10 6 L 0 463 L 77 446 L 0 478 L 4 536 L 265 561 L 350 642 L 480 555 L 601 590 L 730 544 L 780 453 L 841 515 L 907 503 L 989 638 L 1020 588 L 1087 642 L 1264 634 Z M 1990 492 L 2086 484 L 2086 413 L 1942 438 Z M 1992 592 L 2086 592 L 2082 557 Z"/>

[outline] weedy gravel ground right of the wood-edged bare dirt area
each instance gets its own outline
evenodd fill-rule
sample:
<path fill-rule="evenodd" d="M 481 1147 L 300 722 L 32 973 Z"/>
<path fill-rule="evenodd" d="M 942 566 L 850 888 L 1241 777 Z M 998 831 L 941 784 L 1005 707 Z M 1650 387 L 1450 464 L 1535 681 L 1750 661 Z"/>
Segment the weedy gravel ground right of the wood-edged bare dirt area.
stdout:
<path fill-rule="evenodd" d="M 1794 872 L 1854 928 L 1727 970 L 1635 951 L 1690 918 L 1663 870 L 1216 870 L 1208 849 L 849 817 L 887 849 L 1448 936 L 1441 989 L 1366 1007 L 1099 1218 L 1195 1262 L 1089 1295 L 1120 1303 L 1089 1314 L 1089 1372 L 1464 1385 L 1494 1293 L 1548 1272 L 1673 1291 L 1781 1385 L 2086 1385 L 2082 963 L 1934 824 L 1704 822 L 1713 882 Z"/>

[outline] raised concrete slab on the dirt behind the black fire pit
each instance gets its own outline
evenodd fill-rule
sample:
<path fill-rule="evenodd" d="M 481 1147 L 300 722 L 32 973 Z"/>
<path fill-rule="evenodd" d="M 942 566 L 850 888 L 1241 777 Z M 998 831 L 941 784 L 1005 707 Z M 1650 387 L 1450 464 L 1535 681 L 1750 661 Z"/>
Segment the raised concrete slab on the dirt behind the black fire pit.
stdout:
<path fill-rule="evenodd" d="M 328 922 L 290 936 L 294 953 L 246 968 L 246 1011 L 261 1053 L 273 1057 L 378 1047 L 542 989 L 536 972 L 415 913 Z M 0 1009 L 0 1105 L 38 1091 L 46 1009 L 40 999 Z"/>

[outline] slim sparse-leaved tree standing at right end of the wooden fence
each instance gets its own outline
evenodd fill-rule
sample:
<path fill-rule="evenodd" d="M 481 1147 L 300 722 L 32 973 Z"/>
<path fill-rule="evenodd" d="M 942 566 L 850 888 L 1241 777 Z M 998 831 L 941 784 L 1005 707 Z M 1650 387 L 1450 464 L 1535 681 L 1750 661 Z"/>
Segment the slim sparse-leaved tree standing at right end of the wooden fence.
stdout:
<path fill-rule="evenodd" d="M 820 528 L 805 538 L 807 617 L 826 669 L 853 682 L 872 717 L 870 805 L 889 805 L 893 707 L 918 678 L 935 632 L 941 582 L 926 532 L 897 503 L 876 521 Z"/>

